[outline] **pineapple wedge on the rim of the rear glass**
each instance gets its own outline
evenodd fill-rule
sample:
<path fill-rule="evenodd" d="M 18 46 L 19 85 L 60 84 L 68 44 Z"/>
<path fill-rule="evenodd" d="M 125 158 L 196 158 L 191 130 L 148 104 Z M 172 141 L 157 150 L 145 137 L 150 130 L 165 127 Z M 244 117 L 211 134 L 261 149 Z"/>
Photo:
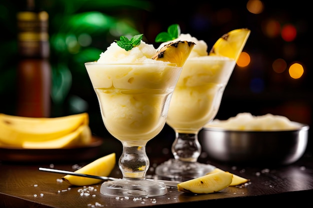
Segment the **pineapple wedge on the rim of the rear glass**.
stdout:
<path fill-rule="evenodd" d="M 226 56 L 237 61 L 249 35 L 247 28 L 231 30 L 214 43 L 209 55 Z"/>

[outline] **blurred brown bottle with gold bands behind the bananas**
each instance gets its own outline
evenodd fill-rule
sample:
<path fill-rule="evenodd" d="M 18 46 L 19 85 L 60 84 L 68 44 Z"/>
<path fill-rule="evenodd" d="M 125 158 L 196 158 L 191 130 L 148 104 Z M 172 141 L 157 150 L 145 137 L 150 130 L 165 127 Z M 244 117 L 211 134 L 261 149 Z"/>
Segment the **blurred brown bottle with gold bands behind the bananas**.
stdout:
<path fill-rule="evenodd" d="M 18 116 L 49 117 L 51 67 L 48 13 L 27 0 L 17 13 L 17 112 Z"/>

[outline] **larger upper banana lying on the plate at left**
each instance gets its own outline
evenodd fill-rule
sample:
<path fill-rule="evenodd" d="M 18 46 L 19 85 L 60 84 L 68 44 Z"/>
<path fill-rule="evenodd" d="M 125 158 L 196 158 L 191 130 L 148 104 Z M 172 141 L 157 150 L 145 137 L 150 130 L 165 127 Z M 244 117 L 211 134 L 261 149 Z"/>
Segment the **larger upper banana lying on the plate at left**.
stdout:
<path fill-rule="evenodd" d="M 0 144 L 20 147 L 24 142 L 54 140 L 88 123 L 87 113 L 57 118 L 29 118 L 0 114 Z"/>

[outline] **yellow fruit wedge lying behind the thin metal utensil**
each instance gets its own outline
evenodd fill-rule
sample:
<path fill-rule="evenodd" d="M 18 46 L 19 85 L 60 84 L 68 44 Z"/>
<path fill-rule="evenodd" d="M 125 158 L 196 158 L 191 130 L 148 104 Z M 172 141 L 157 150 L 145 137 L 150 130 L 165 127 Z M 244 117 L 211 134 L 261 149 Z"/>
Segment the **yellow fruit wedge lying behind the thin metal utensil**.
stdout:
<path fill-rule="evenodd" d="M 84 167 L 75 171 L 75 173 L 94 176 L 108 176 L 113 170 L 114 166 L 115 153 L 111 153 L 85 165 Z M 63 176 L 62 180 L 73 186 L 89 186 L 101 182 L 100 179 L 91 179 L 72 175 Z"/>

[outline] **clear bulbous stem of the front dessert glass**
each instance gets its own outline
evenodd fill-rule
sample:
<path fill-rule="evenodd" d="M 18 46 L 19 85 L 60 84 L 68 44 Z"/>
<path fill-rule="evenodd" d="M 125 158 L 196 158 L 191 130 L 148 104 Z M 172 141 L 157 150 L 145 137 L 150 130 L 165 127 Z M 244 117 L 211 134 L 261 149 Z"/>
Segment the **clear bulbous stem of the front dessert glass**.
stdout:
<path fill-rule="evenodd" d="M 123 178 L 143 179 L 149 168 L 145 146 L 126 146 L 123 144 L 123 152 L 119 158 L 118 167 Z"/>

